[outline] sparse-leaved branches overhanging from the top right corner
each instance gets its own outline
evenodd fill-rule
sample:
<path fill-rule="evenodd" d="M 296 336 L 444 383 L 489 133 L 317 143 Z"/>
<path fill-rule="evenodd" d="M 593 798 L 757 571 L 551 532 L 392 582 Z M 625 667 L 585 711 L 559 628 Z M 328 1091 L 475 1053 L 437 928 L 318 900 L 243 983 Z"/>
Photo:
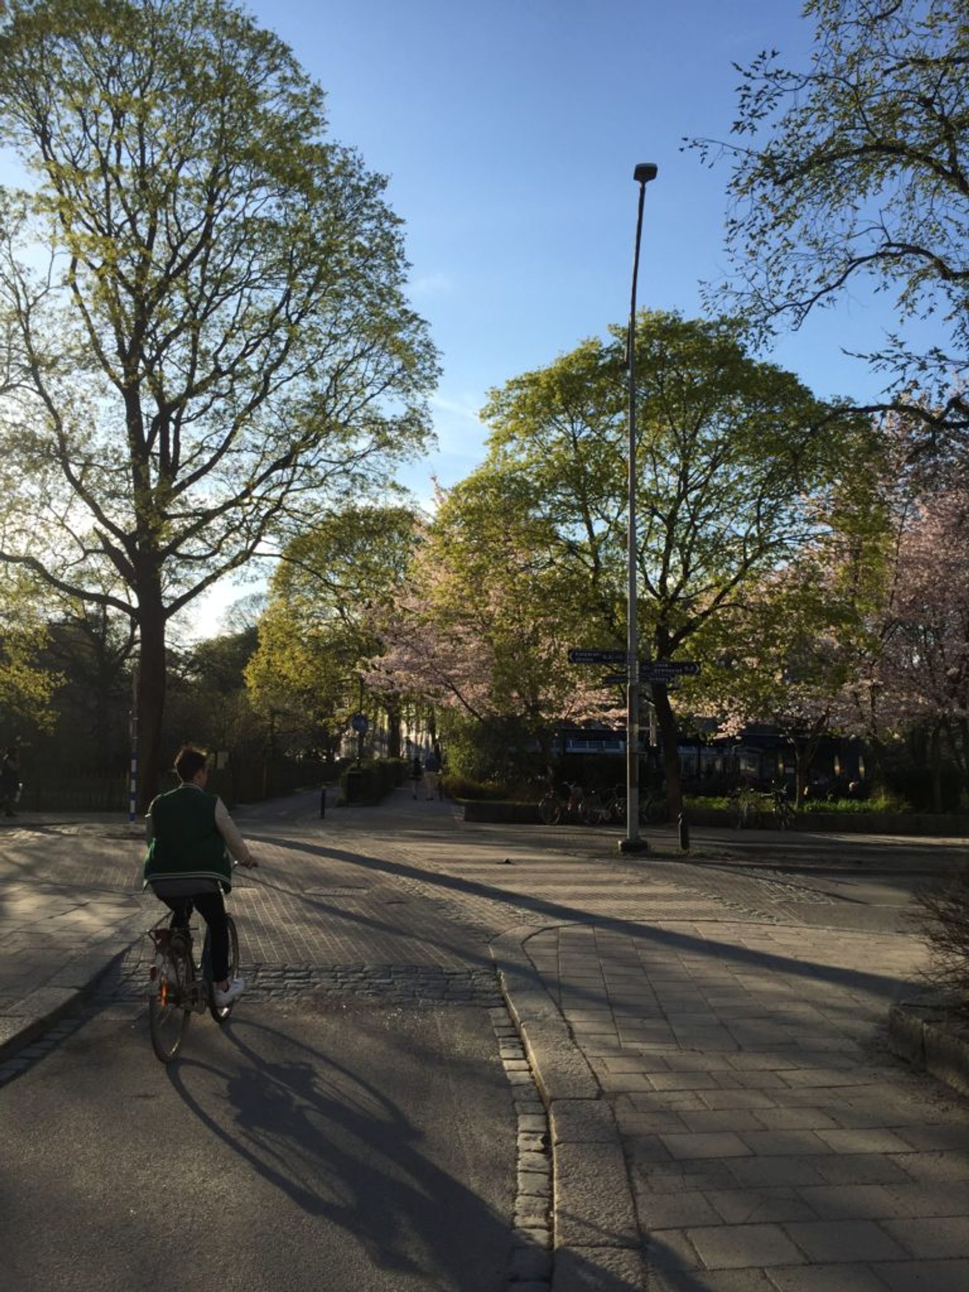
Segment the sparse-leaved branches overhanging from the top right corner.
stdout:
<path fill-rule="evenodd" d="M 809 0 L 806 71 L 776 50 L 743 70 L 738 142 L 694 140 L 733 163 L 727 249 L 740 307 L 798 327 L 867 280 L 901 319 L 944 340 L 890 335 L 867 358 L 889 406 L 969 430 L 969 23 L 963 0 Z M 928 401 L 912 401 L 913 389 Z M 884 406 L 882 406 L 884 407 Z"/>

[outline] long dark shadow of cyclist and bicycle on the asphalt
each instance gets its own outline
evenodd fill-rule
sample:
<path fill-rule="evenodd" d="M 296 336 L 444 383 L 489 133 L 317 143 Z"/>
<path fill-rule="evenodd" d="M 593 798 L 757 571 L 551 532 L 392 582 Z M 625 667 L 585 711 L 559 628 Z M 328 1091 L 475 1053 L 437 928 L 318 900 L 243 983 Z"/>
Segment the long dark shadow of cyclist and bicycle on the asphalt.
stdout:
<path fill-rule="evenodd" d="M 243 1063 L 227 1070 L 211 1053 L 186 1056 L 167 1068 L 169 1081 L 212 1134 L 302 1212 L 351 1233 L 381 1266 L 426 1274 L 429 1257 L 453 1266 L 455 1286 L 470 1286 L 475 1264 L 508 1249 L 508 1220 L 429 1158 L 424 1132 L 372 1081 L 264 1023 L 234 1019 L 221 1035 Z M 287 1050 L 292 1057 L 280 1058 Z M 194 1076 L 225 1083 L 218 1099 L 196 1093 Z M 510 1121 L 508 1142 L 513 1171 Z M 420 1264 L 410 1255 L 417 1248 Z"/>

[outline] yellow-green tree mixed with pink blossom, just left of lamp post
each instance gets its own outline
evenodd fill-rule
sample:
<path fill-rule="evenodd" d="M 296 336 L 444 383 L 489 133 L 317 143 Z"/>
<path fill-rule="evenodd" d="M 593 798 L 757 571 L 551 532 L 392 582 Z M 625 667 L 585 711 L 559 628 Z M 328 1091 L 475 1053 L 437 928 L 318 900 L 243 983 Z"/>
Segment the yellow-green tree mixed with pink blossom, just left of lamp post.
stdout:
<path fill-rule="evenodd" d="M 513 770 L 510 747 L 537 740 L 548 756 L 550 726 L 607 708 L 562 667 L 588 621 L 575 620 L 575 579 L 535 491 L 534 479 L 487 463 L 441 494 L 373 660 L 388 686 L 451 718 L 450 735 L 466 720 L 473 743 L 496 760 L 492 773 L 501 762 Z"/>

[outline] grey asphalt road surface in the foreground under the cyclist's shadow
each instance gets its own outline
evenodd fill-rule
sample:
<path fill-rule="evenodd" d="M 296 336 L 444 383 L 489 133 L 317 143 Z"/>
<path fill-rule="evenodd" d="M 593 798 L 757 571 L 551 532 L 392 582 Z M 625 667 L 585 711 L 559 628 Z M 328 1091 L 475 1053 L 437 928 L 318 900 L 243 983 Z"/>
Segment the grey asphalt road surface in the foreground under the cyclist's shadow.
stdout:
<path fill-rule="evenodd" d="M 5 1292 L 497 1292 L 516 1124 L 486 1009 L 306 995 L 154 1057 L 96 1013 L 0 1093 Z"/>

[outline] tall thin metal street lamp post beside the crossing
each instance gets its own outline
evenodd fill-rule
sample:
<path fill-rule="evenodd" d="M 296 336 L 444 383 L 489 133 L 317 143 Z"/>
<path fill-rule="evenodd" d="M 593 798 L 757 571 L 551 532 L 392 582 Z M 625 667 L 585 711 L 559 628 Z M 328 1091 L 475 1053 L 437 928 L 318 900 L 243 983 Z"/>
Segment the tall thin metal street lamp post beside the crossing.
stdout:
<path fill-rule="evenodd" d="M 640 836 L 640 647 L 636 590 L 636 282 L 640 276 L 640 239 L 642 236 L 642 205 L 646 185 L 655 180 L 658 168 L 652 162 L 641 162 L 633 171 L 640 185 L 640 209 L 636 217 L 636 251 L 633 252 L 633 289 L 629 304 L 629 331 L 627 332 L 627 370 L 629 372 L 629 527 L 628 527 L 628 614 L 627 614 L 627 713 L 625 713 L 625 839 L 620 840 L 623 853 L 642 853 L 649 844 Z"/>

